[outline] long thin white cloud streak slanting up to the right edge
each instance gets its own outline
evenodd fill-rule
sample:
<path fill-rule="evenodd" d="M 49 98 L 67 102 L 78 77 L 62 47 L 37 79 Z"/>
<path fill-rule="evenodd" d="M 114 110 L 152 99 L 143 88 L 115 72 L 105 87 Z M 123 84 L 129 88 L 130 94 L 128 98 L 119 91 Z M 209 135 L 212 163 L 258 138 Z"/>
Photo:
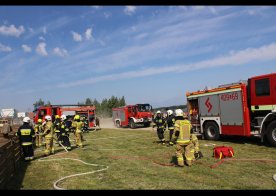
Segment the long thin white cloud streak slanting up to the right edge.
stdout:
<path fill-rule="evenodd" d="M 94 84 L 101 81 L 113 81 L 127 78 L 137 78 L 144 76 L 152 76 L 158 74 L 165 73 L 180 73 L 187 72 L 192 70 L 206 69 L 206 68 L 214 68 L 221 66 L 236 66 L 242 65 L 251 62 L 261 62 L 261 61 L 269 61 L 272 59 L 276 59 L 276 43 L 272 43 L 270 45 L 264 45 L 259 48 L 247 48 L 244 50 L 240 50 L 237 52 L 232 52 L 231 54 L 217 57 L 214 59 L 203 60 L 191 64 L 176 64 L 172 66 L 163 66 L 158 69 L 155 67 L 149 67 L 147 69 L 140 69 L 134 71 L 127 71 L 119 74 L 108 74 L 93 78 L 88 78 L 84 80 L 74 81 L 70 83 L 60 84 L 57 87 L 67 88 L 72 86 L 79 86 L 85 84 Z"/>

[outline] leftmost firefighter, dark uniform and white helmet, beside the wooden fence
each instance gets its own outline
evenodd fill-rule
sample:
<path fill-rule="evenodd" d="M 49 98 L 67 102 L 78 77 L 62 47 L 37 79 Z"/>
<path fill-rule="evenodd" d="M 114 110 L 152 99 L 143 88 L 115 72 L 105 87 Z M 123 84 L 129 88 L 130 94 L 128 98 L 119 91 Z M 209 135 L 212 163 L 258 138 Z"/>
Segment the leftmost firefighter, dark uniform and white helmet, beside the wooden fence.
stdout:
<path fill-rule="evenodd" d="M 23 118 L 23 125 L 19 127 L 16 135 L 19 137 L 24 158 L 26 161 L 34 159 L 33 141 L 35 139 L 35 131 L 30 125 L 29 117 Z"/>

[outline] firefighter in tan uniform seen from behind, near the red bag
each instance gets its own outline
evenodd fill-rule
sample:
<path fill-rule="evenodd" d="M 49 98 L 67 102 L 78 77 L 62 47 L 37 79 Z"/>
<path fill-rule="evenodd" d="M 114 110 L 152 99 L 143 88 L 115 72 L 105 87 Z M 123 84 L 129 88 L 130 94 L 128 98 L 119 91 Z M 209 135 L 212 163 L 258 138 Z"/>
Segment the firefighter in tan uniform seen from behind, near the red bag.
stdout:
<path fill-rule="evenodd" d="M 178 166 L 184 166 L 185 162 L 188 166 L 192 165 L 195 160 L 195 144 L 192 142 L 191 128 L 192 125 L 187 119 L 187 114 L 184 114 L 181 109 L 175 110 L 175 140 L 176 140 L 176 158 Z M 195 138 L 194 138 L 195 139 Z M 184 157 L 183 157 L 184 155 Z"/>

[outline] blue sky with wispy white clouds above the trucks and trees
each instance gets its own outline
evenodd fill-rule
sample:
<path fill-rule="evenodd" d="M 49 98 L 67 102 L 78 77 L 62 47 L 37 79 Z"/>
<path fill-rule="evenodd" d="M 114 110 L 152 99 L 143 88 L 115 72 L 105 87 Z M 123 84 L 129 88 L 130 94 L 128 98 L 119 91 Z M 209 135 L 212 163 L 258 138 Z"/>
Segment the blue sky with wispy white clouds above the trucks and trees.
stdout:
<path fill-rule="evenodd" d="M 275 6 L 1 6 L 0 109 L 185 104 L 187 91 L 276 72 Z"/>

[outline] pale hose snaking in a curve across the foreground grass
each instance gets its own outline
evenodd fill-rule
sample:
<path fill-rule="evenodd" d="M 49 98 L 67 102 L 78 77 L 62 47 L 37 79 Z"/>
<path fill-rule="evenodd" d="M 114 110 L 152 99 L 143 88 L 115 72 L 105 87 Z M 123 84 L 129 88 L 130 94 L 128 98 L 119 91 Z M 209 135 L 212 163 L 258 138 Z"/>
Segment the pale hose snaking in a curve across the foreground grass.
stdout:
<path fill-rule="evenodd" d="M 58 154 L 55 154 L 55 155 L 61 155 L 61 154 L 67 154 L 68 152 L 65 152 L 65 153 L 58 153 Z M 54 155 L 53 155 L 54 156 Z M 46 160 L 45 160 L 46 159 Z M 88 174 L 94 174 L 94 173 L 97 173 L 97 172 L 101 172 L 101 171 L 104 171 L 104 170 L 107 170 L 109 167 L 108 166 L 105 166 L 105 165 L 98 165 L 98 164 L 93 164 L 93 163 L 87 163 L 85 161 L 82 161 L 80 159 L 74 159 L 74 158 L 57 158 L 57 159 L 48 159 L 48 157 L 44 157 L 44 158 L 41 158 L 39 159 L 38 161 L 61 161 L 61 160 L 73 160 L 73 161 L 79 161 L 85 165 L 90 165 L 90 166 L 95 166 L 95 167 L 105 167 L 103 169 L 99 169 L 99 170 L 94 170 L 94 171 L 90 171 L 90 172 L 85 172 L 85 173 L 77 173 L 77 174 L 72 174 L 72 175 L 69 175 L 69 176 L 65 176 L 65 177 L 62 177 L 60 179 L 58 179 L 57 181 L 55 181 L 53 183 L 54 185 L 54 188 L 56 190 L 65 190 L 61 187 L 58 186 L 58 183 L 60 181 L 63 181 L 67 178 L 72 178 L 72 177 L 75 177 L 75 176 L 82 176 L 82 175 L 88 175 Z"/>

